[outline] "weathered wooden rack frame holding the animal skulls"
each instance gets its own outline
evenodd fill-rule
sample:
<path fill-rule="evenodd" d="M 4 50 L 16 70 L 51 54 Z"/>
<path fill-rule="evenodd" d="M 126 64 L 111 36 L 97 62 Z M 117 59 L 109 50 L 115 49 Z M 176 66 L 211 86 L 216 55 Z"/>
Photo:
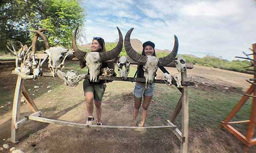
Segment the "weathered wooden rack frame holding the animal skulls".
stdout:
<path fill-rule="evenodd" d="M 39 59 L 44 59 L 46 55 L 36 55 Z M 74 59 L 73 59 L 74 60 Z M 115 62 L 118 58 L 106 61 L 106 62 Z M 137 62 L 129 59 L 131 64 L 138 64 Z M 167 67 L 175 67 L 174 62 L 167 65 Z M 192 63 L 186 63 L 186 69 L 192 69 L 194 66 Z M 170 117 L 170 120 L 167 120 L 167 125 L 164 126 L 112 126 L 112 125 L 92 125 L 91 127 L 86 126 L 84 123 L 76 123 L 70 121 L 63 121 L 58 119 L 48 119 L 41 117 L 41 112 L 36 107 L 33 99 L 29 96 L 25 86 L 23 79 L 18 75 L 17 83 L 15 87 L 15 94 L 13 98 L 13 108 L 12 108 L 12 126 L 11 126 L 11 138 L 9 138 L 10 142 L 16 143 L 16 132 L 20 126 L 22 126 L 27 120 L 34 120 L 39 122 L 46 122 L 46 123 L 54 123 L 66 126 L 74 126 L 74 127 L 86 127 L 86 128 L 115 128 L 115 129 L 172 129 L 174 134 L 181 142 L 181 153 L 186 153 L 188 150 L 188 86 L 194 86 L 195 83 L 187 81 L 187 71 L 184 70 L 181 72 L 182 82 L 181 85 L 183 88 L 178 88 L 181 92 L 181 97 L 179 102 L 176 106 L 175 111 Z M 90 75 L 87 75 L 86 78 L 90 78 Z M 145 79 L 141 78 L 128 78 L 127 80 L 122 80 L 119 77 L 103 77 L 99 76 L 99 80 L 118 80 L 118 81 L 130 81 L 130 82 L 145 82 Z M 163 80 L 155 80 L 155 83 L 164 83 Z M 173 84 L 176 84 L 173 82 Z M 21 96 L 25 97 L 28 106 L 34 112 L 25 118 L 20 119 L 19 116 L 19 108 L 20 108 L 20 99 Z M 182 111 L 182 130 L 180 131 L 178 127 L 174 124 L 176 117 L 178 116 L 179 112 Z"/>

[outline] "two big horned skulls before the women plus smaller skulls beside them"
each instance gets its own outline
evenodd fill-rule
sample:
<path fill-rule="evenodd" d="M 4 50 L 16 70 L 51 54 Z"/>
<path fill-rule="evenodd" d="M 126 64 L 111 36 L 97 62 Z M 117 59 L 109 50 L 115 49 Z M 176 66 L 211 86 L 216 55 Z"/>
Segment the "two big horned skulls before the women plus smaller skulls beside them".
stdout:
<path fill-rule="evenodd" d="M 100 73 L 100 67 L 102 65 L 102 62 L 108 61 L 111 59 L 116 58 L 119 53 L 122 50 L 123 47 L 123 37 L 122 33 L 120 32 L 119 28 L 117 27 L 119 39 L 118 44 L 115 48 L 110 50 L 109 52 L 82 52 L 76 45 L 76 33 L 77 29 L 74 31 L 73 39 L 72 39 L 72 46 L 74 49 L 74 55 L 77 57 L 77 59 L 80 61 L 80 67 L 83 67 L 85 64 L 88 65 L 89 71 L 90 71 L 90 81 L 91 82 L 97 82 L 97 76 Z M 143 65 L 144 70 L 144 77 L 146 84 L 152 84 L 154 81 L 155 73 L 158 69 L 158 66 L 165 66 L 175 60 L 176 67 L 178 71 L 184 71 L 185 66 L 185 60 L 182 57 L 178 57 L 175 59 L 177 53 L 178 53 L 178 38 L 175 36 L 175 43 L 172 52 L 166 57 L 163 58 L 157 58 L 155 56 L 143 56 L 138 54 L 132 47 L 130 42 L 130 36 L 133 31 L 133 28 L 130 29 L 127 34 L 125 35 L 124 39 L 124 48 L 126 50 L 127 55 L 129 57 L 138 62 L 140 65 Z M 127 60 L 126 57 L 122 56 L 117 61 L 118 65 L 118 73 L 121 78 L 124 80 L 127 79 L 127 76 L 130 71 L 130 64 L 131 62 Z M 123 69 L 124 67 L 124 69 Z M 180 82 L 180 77 L 176 75 L 175 77 L 170 77 L 170 75 L 164 75 L 164 81 L 167 85 L 172 85 L 172 79 L 174 79 L 176 82 Z M 179 85 L 181 87 L 181 85 Z"/>

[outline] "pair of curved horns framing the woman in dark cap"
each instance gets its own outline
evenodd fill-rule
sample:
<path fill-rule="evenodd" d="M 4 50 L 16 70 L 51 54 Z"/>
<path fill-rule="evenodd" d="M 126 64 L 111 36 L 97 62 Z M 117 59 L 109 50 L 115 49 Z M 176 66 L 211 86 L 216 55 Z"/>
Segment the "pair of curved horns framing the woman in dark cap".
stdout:
<path fill-rule="evenodd" d="M 124 38 L 124 48 L 126 50 L 126 53 L 131 57 L 131 59 L 133 59 L 134 61 L 140 63 L 140 64 L 144 64 L 146 63 L 147 61 L 147 57 L 146 56 L 143 56 L 143 55 L 140 55 L 138 54 L 132 47 L 131 45 L 131 42 L 130 42 L 130 37 L 131 37 L 131 33 L 133 31 L 134 28 L 130 29 L 127 34 L 125 35 L 125 38 Z M 165 66 L 171 62 L 174 61 L 177 53 L 178 53 L 178 47 L 179 47 L 179 42 L 178 42 L 178 38 L 176 35 L 174 35 L 174 39 L 175 39 L 175 42 L 174 42 L 174 47 L 173 47 L 173 50 L 172 52 L 167 55 L 166 57 L 163 57 L 163 58 L 159 58 L 159 62 L 158 62 L 158 65 L 159 66 Z"/>

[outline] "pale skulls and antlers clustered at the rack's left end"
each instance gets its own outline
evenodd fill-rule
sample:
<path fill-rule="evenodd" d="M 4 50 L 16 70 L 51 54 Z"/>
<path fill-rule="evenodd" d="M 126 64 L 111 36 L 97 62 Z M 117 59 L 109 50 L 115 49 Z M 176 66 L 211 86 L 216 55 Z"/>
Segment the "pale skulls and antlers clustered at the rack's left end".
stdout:
<path fill-rule="evenodd" d="M 42 33 L 46 31 L 46 29 L 39 29 L 37 31 L 32 31 L 35 33 L 32 41 L 32 45 L 28 48 L 27 45 L 23 45 L 21 42 L 21 48 L 16 51 L 15 47 L 10 41 L 7 41 L 7 48 L 16 55 L 15 60 L 15 69 L 14 73 L 18 74 L 22 79 L 34 79 L 36 80 L 42 74 L 42 64 L 49 59 L 48 67 L 51 70 L 53 77 L 56 76 L 57 69 L 63 69 L 64 61 L 67 56 L 70 54 L 68 49 L 57 46 L 57 47 L 50 47 L 49 40 L 47 37 Z M 41 61 L 35 60 L 35 49 L 36 49 L 36 42 L 40 36 L 45 41 L 46 50 L 45 53 L 47 56 Z M 9 45 L 11 44 L 12 49 L 10 49 Z"/>

